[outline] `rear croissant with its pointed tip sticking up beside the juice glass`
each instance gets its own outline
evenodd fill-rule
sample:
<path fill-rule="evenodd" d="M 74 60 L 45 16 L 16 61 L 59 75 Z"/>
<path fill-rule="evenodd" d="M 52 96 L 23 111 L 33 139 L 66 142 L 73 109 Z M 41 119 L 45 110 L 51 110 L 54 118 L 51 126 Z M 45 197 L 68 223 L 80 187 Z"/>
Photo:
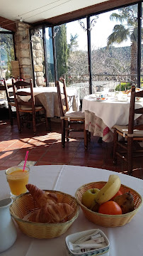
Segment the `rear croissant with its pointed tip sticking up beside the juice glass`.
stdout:
<path fill-rule="evenodd" d="M 33 184 L 27 184 L 25 186 L 35 201 L 38 203 L 40 208 L 45 206 L 46 203 L 57 203 L 57 196 L 55 193 L 45 193 L 45 191 L 42 191 L 40 188 Z"/>

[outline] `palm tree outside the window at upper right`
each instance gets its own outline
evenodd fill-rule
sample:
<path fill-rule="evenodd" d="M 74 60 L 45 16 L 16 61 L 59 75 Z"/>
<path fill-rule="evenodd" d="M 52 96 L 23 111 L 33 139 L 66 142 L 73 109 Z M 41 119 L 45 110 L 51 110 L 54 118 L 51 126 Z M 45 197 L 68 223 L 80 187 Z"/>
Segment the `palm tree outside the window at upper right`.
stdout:
<path fill-rule="evenodd" d="M 108 36 L 107 46 L 122 43 L 130 38 L 131 41 L 131 81 L 137 81 L 137 5 L 119 9 L 119 14 L 110 15 L 111 21 L 120 21 L 115 25 L 113 33 Z M 125 22 L 125 24 L 123 24 Z"/>

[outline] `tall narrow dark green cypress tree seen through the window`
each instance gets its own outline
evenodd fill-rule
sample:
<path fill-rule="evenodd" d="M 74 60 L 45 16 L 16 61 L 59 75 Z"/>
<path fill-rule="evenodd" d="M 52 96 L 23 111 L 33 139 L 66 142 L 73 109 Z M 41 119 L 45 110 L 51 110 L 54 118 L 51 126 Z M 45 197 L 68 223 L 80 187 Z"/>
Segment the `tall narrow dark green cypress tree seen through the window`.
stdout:
<path fill-rule="evenodd" d="M 59 31 L 55 39 L 57 58 L 57 79 L 67 73 L 68 45 L 66 24 L 59 26 Z"/>

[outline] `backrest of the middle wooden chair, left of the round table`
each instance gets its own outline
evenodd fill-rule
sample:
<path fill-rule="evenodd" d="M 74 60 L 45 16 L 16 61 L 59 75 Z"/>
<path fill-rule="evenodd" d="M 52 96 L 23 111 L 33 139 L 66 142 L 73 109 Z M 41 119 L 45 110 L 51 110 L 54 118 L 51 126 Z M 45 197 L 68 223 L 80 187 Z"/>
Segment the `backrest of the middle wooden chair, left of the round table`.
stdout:
<path fill-rule="evenodd" d="M 59 100 L 59 110 L 61 117 L 64 117 L 64 114 L 69 111 L 69 105 L 67 100 L 67 90 L 66 82 L 62 79 L 62 82 L 57 81 L 57 95 Z"/>

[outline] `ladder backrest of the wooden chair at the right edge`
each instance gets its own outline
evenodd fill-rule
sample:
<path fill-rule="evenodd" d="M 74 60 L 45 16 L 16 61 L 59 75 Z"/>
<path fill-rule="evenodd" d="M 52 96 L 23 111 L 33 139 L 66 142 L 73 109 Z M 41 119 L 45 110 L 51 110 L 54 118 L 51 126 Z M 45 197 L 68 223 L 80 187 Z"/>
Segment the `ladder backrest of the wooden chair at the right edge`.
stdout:
<path fill-rule="evenodd" d="M 143 114 L 143 107 L 135 108 L 135 102 L 137 97 L 143 97 L 143 90 L 136 92 L 135 85 L 132 85 L 131 96 L 130 96 L 130 113 L 129 113 L 129 124 L 128 124 L 128 134 L 133 134 L 134 124 L 135 124 L 135 114 Z M 136 125 L 137 128 L 137 125 Z"/>

